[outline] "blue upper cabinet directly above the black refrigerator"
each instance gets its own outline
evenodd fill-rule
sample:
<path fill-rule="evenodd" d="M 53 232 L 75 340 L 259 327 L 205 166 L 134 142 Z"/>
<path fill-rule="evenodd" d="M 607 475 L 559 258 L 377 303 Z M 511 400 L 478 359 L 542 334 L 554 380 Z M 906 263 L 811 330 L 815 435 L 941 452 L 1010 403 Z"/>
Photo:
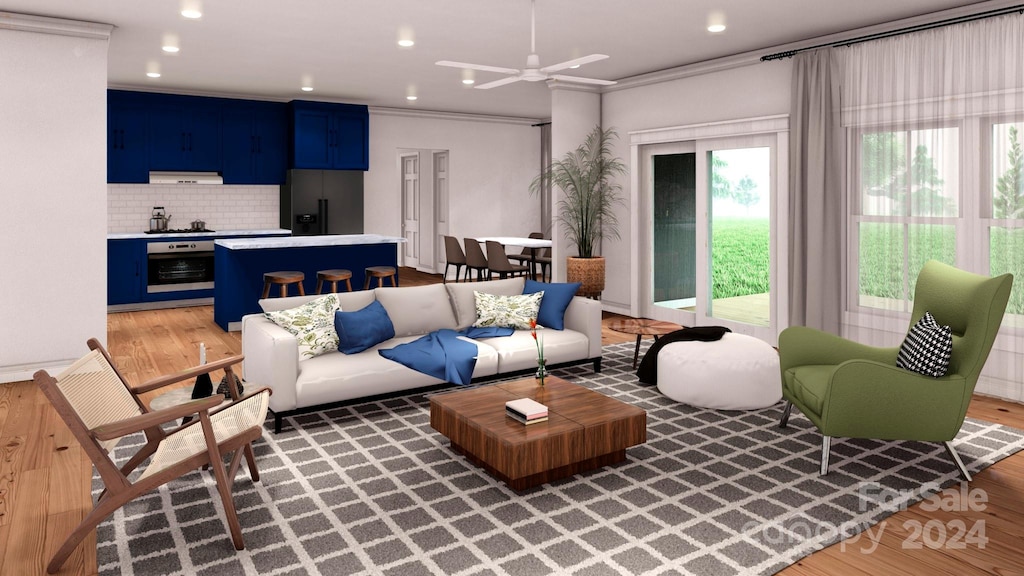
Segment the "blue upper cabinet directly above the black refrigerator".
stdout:
<path fill-rule="evenodd" d="M 292 100 L 292 168 L 369 170 L 365 106 Z"/>

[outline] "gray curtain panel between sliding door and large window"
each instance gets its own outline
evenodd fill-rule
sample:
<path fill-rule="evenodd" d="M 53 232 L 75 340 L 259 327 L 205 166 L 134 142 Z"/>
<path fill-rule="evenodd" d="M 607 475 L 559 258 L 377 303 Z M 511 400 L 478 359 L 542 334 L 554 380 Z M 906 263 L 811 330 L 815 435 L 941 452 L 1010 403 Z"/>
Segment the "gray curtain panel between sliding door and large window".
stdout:
<path fill-rule="evenodd" d="M 797 54 L 790 115 L 790 325 L 840 333 L 845 158 L 838 54 Z"/>

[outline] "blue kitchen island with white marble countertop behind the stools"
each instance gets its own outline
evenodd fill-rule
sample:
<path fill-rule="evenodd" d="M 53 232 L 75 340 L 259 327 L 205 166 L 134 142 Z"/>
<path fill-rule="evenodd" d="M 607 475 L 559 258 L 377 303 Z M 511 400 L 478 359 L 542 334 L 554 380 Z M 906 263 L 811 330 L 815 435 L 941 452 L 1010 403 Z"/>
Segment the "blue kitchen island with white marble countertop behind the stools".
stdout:
<path fill-rule="evenodd" d="M 243 316 L 261 312 L 263 274 L 268 272 L 301 272 L 306 294 L 313 294 L 317 271 L 346 269 L 352 271 L 352 287 L 359 289 L 367 266 L 397 268 L 398 244 L 404 241 L 377 234 L 217 240 L 213 320 L 224 330 L 241 330 Z"/>

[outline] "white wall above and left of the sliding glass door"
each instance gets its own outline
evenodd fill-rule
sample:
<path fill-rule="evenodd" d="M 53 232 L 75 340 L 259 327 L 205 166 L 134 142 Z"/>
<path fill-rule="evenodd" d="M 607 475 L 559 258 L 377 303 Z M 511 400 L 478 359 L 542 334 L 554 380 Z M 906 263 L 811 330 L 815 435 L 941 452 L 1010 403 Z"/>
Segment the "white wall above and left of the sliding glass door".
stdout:
<path fill-rule="evenodd" d="M 635 130 L 788 114 L 792 72 L 792 60 L 775 60 L 607 92 L 601 123 L 618 133 L 614 154 L 631 164 L 629 133 Z M 629 166 L 630 172 L 636 169 Z M 627 197 L 639 193 L 630 181 L 630 173 L 620 180 Z M 633 204 L 618 212 L 622 239 L 605 241 L 601 248 L 607 266 L 601 302 L 625 314 L 634 312 L 631 239 L 640 214 L 632 213 Z"/>

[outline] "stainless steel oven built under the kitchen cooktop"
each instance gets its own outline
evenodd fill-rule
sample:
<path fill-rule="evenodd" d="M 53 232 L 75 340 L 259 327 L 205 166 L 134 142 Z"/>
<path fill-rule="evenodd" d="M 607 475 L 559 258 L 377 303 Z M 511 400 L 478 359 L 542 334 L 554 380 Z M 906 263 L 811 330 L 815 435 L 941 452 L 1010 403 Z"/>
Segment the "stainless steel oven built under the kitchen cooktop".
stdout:
<path fill-rule="evenodd" d="M 145 252 L 147 293 L 213 288 L 212 240 L 150 242 Z"/>

